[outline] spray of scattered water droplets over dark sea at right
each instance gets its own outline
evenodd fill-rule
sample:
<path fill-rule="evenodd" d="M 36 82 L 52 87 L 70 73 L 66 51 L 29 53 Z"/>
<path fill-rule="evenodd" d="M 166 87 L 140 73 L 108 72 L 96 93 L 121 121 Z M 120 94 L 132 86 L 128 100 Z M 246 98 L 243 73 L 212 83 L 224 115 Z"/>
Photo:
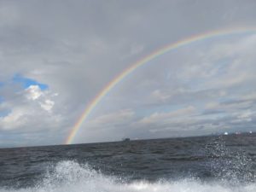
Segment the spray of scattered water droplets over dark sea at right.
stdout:
<path fill-rule="evenodd" d="M 230 183 L 252 183 L 256 179 L 252 171 L 253 160 L 241 148 L 228 148 L 224 136 L 214 137 L 207 144 L 211 172 L 214 177 Z"/>

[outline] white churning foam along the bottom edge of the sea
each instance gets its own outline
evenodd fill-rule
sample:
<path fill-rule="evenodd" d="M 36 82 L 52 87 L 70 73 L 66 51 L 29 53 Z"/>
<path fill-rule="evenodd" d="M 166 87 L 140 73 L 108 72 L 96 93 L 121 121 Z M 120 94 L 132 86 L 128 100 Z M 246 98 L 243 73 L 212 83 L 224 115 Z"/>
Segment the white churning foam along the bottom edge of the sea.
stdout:
<path fill-rule="evenodd" d="M 0 189 L 0 192 L 255 192 L 256 183 L 232 185 L 228 182 L 202 183 L 192 178 L 178 181 L 127 183 L 117 177 L 105 176 L 87 165 L 62 161 L 55 171 L 34 187 L 26 189 Z"/>

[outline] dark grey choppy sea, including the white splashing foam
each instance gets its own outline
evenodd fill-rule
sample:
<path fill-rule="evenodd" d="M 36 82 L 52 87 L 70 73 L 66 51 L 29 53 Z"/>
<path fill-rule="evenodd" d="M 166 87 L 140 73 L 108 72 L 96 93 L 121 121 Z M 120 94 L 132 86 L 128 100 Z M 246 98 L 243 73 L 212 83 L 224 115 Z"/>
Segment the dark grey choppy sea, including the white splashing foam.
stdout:
<path fill-rule="evenodd" d="M 255 192 L 256 134 L 0 149 L 0 192 Z"/>

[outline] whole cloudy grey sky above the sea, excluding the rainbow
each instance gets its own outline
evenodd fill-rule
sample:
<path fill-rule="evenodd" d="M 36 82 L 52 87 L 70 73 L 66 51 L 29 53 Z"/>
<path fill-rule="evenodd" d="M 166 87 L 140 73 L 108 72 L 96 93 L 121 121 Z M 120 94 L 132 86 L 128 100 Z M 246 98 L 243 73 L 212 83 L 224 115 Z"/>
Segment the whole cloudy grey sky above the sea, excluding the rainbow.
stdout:
<path fill-rule="evenodd" d="M 0 147 L 65 143 L 90 101 L 167 44 L 256 27 L 254 0 L 0 0 Z M 187 44 L 129 74 L 73 143 L 256 131 L 256 33 Z"/>

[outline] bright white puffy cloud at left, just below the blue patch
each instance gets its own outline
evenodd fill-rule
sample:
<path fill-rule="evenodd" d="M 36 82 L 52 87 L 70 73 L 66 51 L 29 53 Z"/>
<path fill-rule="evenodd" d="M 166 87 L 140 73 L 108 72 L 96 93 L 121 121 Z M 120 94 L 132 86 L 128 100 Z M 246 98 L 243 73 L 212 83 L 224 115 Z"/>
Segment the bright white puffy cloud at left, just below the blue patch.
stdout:
<path fill-rule="evenodd" d="M 30 85 L 26 90 L 13 93 L 0 103 L 0 110 L 8 111 L 0 117 L 2 131 L 35 132 L 58 128 L 61 113 L 52 113 L 55 95 L 49 90 L 41 90 L 38 85 Z"/>

